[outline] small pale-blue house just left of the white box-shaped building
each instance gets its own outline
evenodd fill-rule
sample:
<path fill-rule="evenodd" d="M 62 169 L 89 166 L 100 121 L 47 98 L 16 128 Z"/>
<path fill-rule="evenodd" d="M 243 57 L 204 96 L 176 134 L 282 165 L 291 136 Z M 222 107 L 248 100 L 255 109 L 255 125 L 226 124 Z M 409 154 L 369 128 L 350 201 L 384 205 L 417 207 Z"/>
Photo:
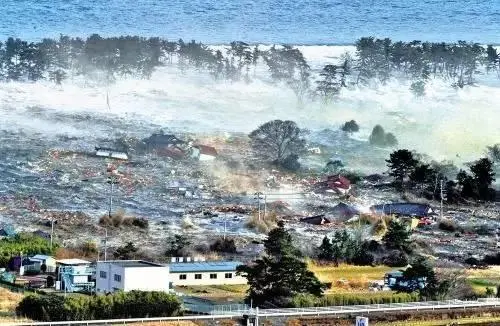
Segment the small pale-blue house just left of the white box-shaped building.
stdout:
<path fill-rule="evenodd" d="M 64 292 L 92 292 L 95 268 L 82 259 L 61 259 L 56 261 L 56 290 Z"/>

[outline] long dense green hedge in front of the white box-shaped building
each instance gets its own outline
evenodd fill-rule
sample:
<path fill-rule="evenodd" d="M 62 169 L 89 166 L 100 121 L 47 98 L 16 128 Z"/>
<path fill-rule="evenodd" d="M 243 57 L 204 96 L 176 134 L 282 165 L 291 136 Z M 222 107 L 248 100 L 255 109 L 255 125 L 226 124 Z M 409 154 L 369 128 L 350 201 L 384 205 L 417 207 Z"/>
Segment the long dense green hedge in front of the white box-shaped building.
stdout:
<path fill-rule="evenodd" d="M 17 306 L 19 317 L 38 321 L 177 316 L 181 302 L 165 292 L 119 292 L 106 296 L 29 295 Z"/>

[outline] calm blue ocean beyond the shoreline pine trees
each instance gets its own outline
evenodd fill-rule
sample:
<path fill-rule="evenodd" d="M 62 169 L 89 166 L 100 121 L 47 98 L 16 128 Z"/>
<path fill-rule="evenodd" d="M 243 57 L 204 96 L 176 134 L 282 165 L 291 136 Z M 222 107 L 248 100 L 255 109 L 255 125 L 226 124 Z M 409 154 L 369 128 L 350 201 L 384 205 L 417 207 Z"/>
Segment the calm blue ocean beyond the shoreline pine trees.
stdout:
<path fill-rule="evenodd" d="M 500 43 L 498 0 L 3 0 L 0 37 L 147 35 L 209 44 Z"/>

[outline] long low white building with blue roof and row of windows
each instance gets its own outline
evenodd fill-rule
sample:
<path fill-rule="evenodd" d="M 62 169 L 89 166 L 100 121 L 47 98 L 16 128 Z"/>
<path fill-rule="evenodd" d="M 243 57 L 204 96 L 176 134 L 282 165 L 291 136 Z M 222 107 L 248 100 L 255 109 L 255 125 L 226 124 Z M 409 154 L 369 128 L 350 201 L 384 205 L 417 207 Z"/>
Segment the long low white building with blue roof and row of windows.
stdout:
<path fill-rule="evenodd" d="M 247 279 L 236 275 L 237 261 L 170 263 L 170 279 L 174 286 L 247 284 Z"/>

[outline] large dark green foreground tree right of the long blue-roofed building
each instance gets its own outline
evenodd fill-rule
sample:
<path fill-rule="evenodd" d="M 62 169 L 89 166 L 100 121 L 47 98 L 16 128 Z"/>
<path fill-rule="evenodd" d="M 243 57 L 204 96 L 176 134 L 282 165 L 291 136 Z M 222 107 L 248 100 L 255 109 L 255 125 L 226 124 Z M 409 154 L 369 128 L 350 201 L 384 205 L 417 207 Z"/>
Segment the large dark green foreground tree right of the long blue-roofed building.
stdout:
<path fill-rule="evenodd" d="M 238 266 L 248 280 L 247 300 L 258 306 L 289 306 L 298 294 L 321 296 L 324 285 L 307 269 L 283 223 L 264 242 L 266 255 L 250 265 Z"/>

